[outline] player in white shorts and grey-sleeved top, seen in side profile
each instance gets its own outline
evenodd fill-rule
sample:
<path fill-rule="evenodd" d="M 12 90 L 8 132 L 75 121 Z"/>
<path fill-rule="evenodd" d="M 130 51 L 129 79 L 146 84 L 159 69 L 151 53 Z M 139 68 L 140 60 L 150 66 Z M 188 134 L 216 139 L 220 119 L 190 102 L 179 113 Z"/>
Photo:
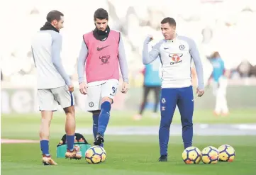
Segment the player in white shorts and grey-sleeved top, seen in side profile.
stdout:
<path fill-rule="evenodd" d="M 81 154 L 74 149 L 74 87 L 62 66 L 60 52 L 64 15 L 60 11 L 50 11 L 46 17 L 47 22 L 35 33 L 31 42 L 33 59 L 37 69 L 38 100 L 41 111 L 40 148 L 43 154 L 44 165 L 57 164 L 50 157 L 49 135 L 50 122 L 53 111 L 60 104 L 66 113 L 65 131 L 67 135 L 67 152 L 69 159 L 81 159 Z"/>

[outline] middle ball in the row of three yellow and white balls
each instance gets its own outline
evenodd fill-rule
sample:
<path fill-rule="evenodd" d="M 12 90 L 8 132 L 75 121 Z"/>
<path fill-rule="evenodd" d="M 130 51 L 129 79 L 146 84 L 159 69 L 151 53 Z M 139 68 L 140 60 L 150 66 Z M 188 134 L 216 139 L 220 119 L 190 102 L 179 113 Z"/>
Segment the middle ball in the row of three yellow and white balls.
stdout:
<path fill-rule="evenodd" d="M 218 163 L 218 149 L 213 146 L 205 147 L 202 151 L 202 162 L 204 164 L 217 164 Z"/>

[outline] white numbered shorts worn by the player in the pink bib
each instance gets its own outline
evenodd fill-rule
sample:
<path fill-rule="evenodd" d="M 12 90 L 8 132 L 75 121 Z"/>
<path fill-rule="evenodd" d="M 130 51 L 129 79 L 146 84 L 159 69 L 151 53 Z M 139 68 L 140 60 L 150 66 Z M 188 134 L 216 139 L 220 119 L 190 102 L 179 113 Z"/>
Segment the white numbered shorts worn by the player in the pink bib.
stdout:
<path fill-rule="evenodd" d="M 86 111 L 96 111 L 101 108 L 101 98 L 109 97 L 113 100 L 116 96 L 119 81 L 108 79 L 102 84 L 87 87 Z"/>

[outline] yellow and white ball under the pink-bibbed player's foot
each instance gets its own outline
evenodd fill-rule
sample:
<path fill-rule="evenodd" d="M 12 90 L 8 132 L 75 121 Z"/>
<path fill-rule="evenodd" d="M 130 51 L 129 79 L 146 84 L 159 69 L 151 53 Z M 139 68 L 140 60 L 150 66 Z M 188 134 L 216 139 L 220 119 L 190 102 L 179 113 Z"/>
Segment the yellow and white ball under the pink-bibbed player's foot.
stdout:
<path fill-rule="evenodd" d="M 89 164 L 99 164 L 106 159 L 106 151 L 103 147 L 93 146 L 85 152 L 85 159 Z"/>

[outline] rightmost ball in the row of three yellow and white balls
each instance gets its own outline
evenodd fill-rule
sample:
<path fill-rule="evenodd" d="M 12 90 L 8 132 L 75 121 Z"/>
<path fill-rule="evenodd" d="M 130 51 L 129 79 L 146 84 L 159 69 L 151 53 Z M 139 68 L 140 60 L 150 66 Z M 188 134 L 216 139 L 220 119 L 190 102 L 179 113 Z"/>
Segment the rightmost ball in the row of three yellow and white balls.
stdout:
<path fill-rule="evenodd" d="M 233 162 L 235 159 L 235 149 L 230 145 L 221 145 L 218 147 L 220 161 Z"/>

